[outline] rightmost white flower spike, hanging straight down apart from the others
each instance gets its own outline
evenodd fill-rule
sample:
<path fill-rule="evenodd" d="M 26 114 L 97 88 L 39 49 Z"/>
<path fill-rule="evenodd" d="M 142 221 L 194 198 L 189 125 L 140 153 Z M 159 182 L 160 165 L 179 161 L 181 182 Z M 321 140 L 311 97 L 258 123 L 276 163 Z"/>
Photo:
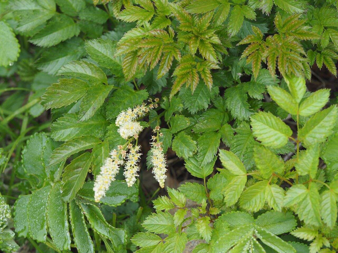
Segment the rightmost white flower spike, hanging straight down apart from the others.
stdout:
<path fill-rule="evenodd" d="M 167 165 L 166 165 L 166 158 L 163 153 L 162 145 L 163 143 L 159 141 L 159 136 L 162 136 L 162 133 L 159 133 L 160 127 L 156 126 L 156 128 L 153 130 L 154 132 L 157 132 L 157 136 L 152 136 L 153 142 L 151 143 L 151 159 L 150 162 L 153 166 L 152 173 L 154 174 L 155 179 L 159 182 L 161 188 L 164 187 L 164 181 L 166 179 L 166 171 L 167 171 Z M 156 142 L 155 142 L 156 141 Z"/>

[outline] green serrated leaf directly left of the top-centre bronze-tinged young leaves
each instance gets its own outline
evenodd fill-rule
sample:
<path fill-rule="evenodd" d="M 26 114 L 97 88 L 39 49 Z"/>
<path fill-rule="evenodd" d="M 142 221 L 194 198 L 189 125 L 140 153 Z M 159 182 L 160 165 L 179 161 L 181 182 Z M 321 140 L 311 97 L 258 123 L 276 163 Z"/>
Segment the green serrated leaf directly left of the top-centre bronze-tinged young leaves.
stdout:
<path fill-rule="evenodd" d="M 109 39 L 92 39 L 86 41 L 86 51 L 99 65 L 122 71 L 122 60 L 115 57 L 116 42 Z"/>

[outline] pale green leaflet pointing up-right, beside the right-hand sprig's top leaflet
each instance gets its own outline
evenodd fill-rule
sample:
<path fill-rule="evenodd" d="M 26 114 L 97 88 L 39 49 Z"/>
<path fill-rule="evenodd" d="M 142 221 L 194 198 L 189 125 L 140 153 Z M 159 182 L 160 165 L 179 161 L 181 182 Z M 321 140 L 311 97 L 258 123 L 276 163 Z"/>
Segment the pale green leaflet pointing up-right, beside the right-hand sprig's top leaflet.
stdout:
<path fill-rule="evenodd" d="M 299 115 L 310 116 L 320 111 L 320 109 L 328 103 L 329 96 L 329 89 L 320 89 L 311 93 L 311 95 L 299 105 Z"/>

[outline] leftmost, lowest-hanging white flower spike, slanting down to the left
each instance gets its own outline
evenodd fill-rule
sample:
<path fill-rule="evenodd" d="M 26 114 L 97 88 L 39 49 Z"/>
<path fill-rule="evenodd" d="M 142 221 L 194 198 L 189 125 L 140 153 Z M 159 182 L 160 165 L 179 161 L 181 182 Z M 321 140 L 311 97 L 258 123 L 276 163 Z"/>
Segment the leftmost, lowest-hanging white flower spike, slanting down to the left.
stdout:
<path fill-rule="evenodd" d="M 105 196 L 112 181 L 115 180 L 116 174 L 119 172 L 119 166 L 123 164 L 123 160 L 119 159 L 121 152 L 113 149 L 110 157 L 107 157 L 101 166 L 100 174 L 96 177 L 94 183 L 94 199 L 99 202 Z"/>

